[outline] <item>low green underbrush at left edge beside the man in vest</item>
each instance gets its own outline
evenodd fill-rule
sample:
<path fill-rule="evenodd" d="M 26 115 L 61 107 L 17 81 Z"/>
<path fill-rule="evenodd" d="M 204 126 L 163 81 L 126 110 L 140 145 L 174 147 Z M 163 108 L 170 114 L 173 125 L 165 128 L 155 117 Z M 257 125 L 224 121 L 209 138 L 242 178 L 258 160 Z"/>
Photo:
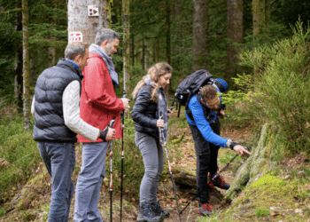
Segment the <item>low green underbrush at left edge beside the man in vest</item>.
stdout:
<path fill-rule="evenodd" d="M 0 203 L 11 197 L 37 169 L 41 157 L 23 118 L 14 106 L 2 107 L 0 116 Z M 5 114 L 5 115 L 4 115 Z M 33 123 L 33 121 L 32 121 Z"/>

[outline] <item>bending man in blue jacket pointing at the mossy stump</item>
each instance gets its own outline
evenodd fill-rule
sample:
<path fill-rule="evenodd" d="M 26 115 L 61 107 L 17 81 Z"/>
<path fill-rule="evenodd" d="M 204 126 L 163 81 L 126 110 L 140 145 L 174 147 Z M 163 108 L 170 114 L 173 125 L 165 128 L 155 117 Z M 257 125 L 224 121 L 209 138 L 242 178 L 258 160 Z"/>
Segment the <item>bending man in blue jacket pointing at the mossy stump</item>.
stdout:
<path fill-rule="evenodd" d="M 195 143 L 197 155 L 197 196 L 199 200 L 198 214 L 208 216 L 213 212 L 213 207 L 208 203 L 208 172 L 209 178 L 216 175 L 217 155 L 220 147 L 230 147 L 239 155 L 251 155 L 244 147 L 234 143 L 231 139 L 221 138 L 221 125 L 219 117 L 225 116 L 224 110 L 220 110 L 221 96 L 219 87 L 227 91 L 228 84 L 221 79 L 216 79 L 214 84 L 207 84 L 200 93 L 190 98 L 189 106 L 186 109 L 186 118 L 190 125 L 190 131 Z M 218 186 L 229 189 L 221 176 L 214 179 L 210 186 Z"/>

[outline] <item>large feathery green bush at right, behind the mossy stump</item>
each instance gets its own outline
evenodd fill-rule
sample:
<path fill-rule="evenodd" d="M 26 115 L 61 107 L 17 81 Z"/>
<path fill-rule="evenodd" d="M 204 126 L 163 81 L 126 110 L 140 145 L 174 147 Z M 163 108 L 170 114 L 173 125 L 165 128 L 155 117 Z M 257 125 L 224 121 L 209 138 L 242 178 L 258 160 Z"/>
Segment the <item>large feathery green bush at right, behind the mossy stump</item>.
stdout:
<path fill-rule="evenodd" d="M 240 65 L 253 73 L 238 75 L 239 90 L 224 100 L 238 101 L 236 120 L 273 124 L 294 155 L 310 151 L 310 27 L 298 22 L 292 31 L 291 39 L 241 53 Z"/>

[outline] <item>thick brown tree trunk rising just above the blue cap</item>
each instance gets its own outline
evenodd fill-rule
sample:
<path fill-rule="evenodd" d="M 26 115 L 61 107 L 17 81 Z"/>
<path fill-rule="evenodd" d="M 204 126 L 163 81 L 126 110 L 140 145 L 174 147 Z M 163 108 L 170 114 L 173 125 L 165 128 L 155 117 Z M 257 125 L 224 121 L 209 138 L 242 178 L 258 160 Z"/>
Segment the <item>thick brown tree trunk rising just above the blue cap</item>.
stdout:
<path fill-rule="evenodd" d="M 226 79 L 235 77 L 237 73 L 237 56 L 240 52 L 233 44 L 242 44 L 243 42 L 243 0 L 228 0 L 228 27 L 227 37 L 229 44 L 227 46 L 227 64 Z"/>

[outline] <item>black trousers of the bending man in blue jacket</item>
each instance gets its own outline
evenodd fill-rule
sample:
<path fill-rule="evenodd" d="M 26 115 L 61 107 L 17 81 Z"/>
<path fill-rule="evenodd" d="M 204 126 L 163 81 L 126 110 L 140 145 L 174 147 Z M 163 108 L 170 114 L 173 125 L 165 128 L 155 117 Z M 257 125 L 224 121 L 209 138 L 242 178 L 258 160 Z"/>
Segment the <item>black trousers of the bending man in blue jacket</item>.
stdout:
<path fill-rule="evenodd" d="M 221 123 L 218 118 L 215 123 L 211 124 L 211 127 L 216 134 L 220 135 Z M 207 186 L 208 172 L 213 174 L 219 169 L 217 166 L 217 156 L 220 147 L 205 141 L 197 126 L 190 125 L 190 131 L 194 139 L 197 155 L 197 196 L 201 203 L 205 203 L 209 202 L 210 199 Z"/>

